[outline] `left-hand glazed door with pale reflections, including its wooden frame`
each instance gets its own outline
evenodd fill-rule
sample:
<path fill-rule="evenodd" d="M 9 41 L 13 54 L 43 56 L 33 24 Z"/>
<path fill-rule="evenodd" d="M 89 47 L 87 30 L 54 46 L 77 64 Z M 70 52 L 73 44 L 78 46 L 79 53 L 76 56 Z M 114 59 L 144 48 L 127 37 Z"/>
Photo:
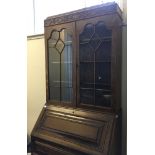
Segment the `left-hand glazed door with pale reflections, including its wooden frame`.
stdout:
<path fill-rule="evenodd" d="M 45 28 L 48 104 L 75 105 L 75 23 Z"/>

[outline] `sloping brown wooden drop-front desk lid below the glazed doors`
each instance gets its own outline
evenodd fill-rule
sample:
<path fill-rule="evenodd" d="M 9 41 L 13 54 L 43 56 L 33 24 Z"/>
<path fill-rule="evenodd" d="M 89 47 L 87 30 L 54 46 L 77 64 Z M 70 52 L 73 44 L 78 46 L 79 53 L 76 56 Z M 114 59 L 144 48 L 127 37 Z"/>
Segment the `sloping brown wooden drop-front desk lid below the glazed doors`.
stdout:
<path fill-rule="evenodd" d="M 37 137 L 84 153 L 101 155 L 110 143 L 113 119 L 111 114 L 96 120 L 95 117 L 47 110 L 37 129 Z"/>

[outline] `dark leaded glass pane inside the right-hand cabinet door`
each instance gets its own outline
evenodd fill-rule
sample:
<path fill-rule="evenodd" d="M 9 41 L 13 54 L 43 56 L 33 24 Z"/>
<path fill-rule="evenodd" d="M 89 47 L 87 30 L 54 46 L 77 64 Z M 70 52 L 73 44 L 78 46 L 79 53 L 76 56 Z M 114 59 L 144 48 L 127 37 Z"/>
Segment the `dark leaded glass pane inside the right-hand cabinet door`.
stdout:
<path fill-rule="evenodd" d="M 80 103 L 111 106 L 111 45 L 104 22 L 85 25 L 79 36 Z"/>

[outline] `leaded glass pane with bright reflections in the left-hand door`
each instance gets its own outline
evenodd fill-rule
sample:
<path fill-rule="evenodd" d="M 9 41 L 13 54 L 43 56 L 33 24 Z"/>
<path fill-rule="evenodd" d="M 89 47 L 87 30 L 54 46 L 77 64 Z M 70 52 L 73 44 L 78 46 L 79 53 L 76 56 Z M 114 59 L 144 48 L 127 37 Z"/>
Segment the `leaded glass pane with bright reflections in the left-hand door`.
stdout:
<path fill-rule="evenodd" d="M 48 40 L 49 99 L 59 102 L 72 100 L 72 34 L 54 30 Z"/>

